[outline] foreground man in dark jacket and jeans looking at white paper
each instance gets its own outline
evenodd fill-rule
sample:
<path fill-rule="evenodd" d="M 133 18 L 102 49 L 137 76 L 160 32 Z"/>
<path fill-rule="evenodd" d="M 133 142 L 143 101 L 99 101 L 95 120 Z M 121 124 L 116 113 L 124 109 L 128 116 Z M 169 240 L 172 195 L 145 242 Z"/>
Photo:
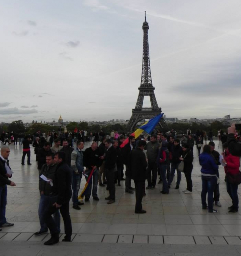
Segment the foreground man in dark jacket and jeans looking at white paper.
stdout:
<path fill-rule="evenodd" d="M 50 153 L 46 155 L 46 164 L 42 166 L 40 177 L 39 177 L 39 192 L 40 201 L 38 206 L 38 216 L 40 222 L 40 230 L 35 232 L 35 236 L 41 236 L 48 232 L 48 227 L 44 221 L 43 213 L 46 208 L 49 207 L 49 198 L 53 192 L 53 180 L 55 177 L 56 165 L 54 164 L 54 154 Z M 41 177 L 42 176 L 42 177 Z M 56 223 L 58 232 L 60 233 L 60 213 L 59 210 L 54 214 L 54 221 Z"/>

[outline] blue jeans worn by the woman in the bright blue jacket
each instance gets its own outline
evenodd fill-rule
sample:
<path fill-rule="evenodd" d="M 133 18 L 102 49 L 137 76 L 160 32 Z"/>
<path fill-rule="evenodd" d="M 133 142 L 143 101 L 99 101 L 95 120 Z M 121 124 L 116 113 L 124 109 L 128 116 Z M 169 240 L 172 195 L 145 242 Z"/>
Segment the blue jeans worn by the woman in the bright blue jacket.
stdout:
<path fill-rule="evenodd" d="M 204 176 L 202 175 L 202 205 L 207 206 L 206 203 L 206 196 L 208 192 L 208 208 L 209 212 L 213 211 L 213 192 L 217 184 L 217 177 L 216 176 Z"/>

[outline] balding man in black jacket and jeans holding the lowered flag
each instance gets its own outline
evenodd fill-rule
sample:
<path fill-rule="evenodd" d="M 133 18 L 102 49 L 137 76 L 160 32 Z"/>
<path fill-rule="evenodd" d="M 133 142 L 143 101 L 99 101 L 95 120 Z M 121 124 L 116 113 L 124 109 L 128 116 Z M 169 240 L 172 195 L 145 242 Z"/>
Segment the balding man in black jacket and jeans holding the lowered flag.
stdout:
<path fill-rule="evenodd" d="M 97 185 L 98 185 L 98 178 L 99 178 L 99 167 L 102 163 L 102 160 L 100 159 L 102 155 L 100 155 L 98 150 L 98 144 L 96 142 L 93 142 L 91 147 L 88 147 L 84 151 L 84 166 L 85 174 L 90 175 L 92 168 L 94 168 L 94 172 L 92 175 L 92 178 L 89 181 L 89 188 L 86 191 L 85 194 L 85 202 L 89 201 L 90 195 L 91 195 L 91 188 L 93 184 L 93 190 L 92 190 L 92 196 L 93 199 L 96 201 L 99 201 L 98 195 L 97 195 Z M 88 180 L 88 177 L 85 176 L 86 181 Z M 92 183 L 93 180 L 93 183 Z"/>

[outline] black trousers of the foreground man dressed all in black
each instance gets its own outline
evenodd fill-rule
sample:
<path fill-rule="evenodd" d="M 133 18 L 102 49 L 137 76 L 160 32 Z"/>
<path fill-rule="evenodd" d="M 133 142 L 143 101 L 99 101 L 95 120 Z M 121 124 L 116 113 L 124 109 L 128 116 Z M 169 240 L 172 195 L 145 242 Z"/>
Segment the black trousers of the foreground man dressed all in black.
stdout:
<path fill-rule="evenodd" d="M 69 200 L 64 202 L 62 204 L 62 206 L 60 207 L 60 213 L 64 220 L 65 239 L 67 239 L 67 240 L 70 240 L 71 235 L 72 235 L 72 223 L 71 223 L 71 218 L 70 218 L 70 214 L 69 214 Z M 55 206 L 49 206 L 49 208 L 47 208 L 44 212 L 44 220 L 46 222 L 47 227 L 50 230 L 52 237 L 59 236 L 57 226 L 52 217 L 52 214 L 54 214 L 57 210 L 58 210 L 58 208 L 56 208 Z"/>

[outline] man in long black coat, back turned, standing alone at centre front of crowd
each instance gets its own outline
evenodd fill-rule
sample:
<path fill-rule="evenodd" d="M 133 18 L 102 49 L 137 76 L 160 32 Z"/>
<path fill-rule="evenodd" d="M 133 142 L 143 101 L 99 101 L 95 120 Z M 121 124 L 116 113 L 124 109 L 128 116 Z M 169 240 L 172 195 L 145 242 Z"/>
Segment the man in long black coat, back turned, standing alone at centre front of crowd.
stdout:
<path fill-rule="evenodd" d="M 146 213 L 146 211 L 142 209 L 143 189 L 145 188 L 147 168 L 146 156 L 143 152 L 145 146 L 146 141 L 140 140 L 138 147 L 131 152 L 131 177 L 135 182 L 136 188 L 135 213 Z"/>

